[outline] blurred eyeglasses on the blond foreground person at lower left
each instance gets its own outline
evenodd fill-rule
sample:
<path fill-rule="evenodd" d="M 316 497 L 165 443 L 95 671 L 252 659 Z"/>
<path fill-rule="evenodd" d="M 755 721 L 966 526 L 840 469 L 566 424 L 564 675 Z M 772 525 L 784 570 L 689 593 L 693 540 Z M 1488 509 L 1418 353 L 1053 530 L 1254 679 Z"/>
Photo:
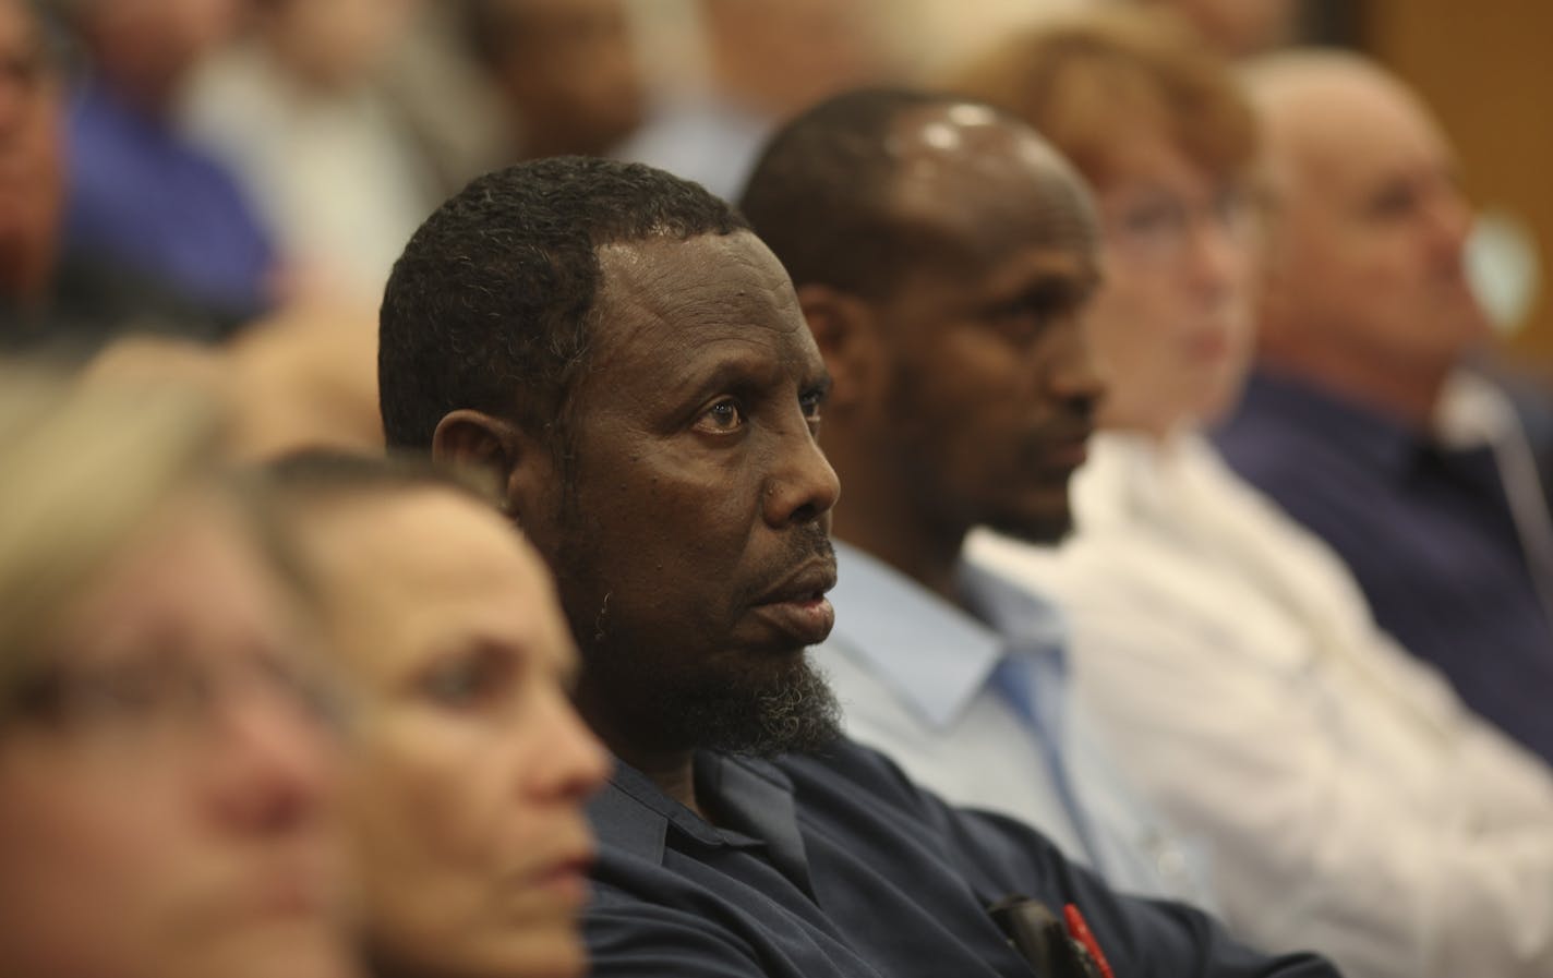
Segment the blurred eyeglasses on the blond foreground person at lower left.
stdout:
<path fill-rule="evenodd" d="M 110 666 L 48 666 L 12 686 L 0 716 L 116 750 L 197 748 L 233 703 L 255 695 L 289 706 L 320 730 L 343 720 L 340 691 L 321 669 L 278 655 L 219 666 L 148 655 Z"/>

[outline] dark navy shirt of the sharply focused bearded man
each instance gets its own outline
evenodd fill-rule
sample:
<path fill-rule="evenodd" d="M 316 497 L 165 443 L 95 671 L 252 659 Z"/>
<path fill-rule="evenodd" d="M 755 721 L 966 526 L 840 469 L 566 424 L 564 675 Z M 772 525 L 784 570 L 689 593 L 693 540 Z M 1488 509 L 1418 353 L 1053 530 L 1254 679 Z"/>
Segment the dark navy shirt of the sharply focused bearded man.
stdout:
<path fill-rule="evenodd" d="M 702 753 L 696 784 L 716 826 L 626 765 L 592 803 L 596 978 L 1030 978 L 985 910 L 1014 893 L 1075 903 L 1118 978 L 1336 975 L 1117 896 L 1034 829 L 949 807 L 849 740 L 776 762 Z"/>

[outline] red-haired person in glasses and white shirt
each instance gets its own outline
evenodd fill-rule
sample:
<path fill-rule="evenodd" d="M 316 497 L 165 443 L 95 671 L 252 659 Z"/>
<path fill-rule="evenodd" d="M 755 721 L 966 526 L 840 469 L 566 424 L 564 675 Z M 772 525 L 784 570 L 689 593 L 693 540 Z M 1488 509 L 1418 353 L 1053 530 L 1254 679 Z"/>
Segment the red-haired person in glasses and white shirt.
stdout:
<path fill-rule="evenodd" d="M 1253 127 L 1225 68 L 1143 17 L 1058 22 L 957 88 L 1092 180 L 1110 376 L 1076 532 L 978 534 L 972 564 L 1062 601 L 1075 681 L 1137 784 L 1211 843 L 1225 919 L 1357 978 L 1553 966 L 1553 772 L 1373 621 L 1342 560 L 1200 427 L 1246 373 Z"/>

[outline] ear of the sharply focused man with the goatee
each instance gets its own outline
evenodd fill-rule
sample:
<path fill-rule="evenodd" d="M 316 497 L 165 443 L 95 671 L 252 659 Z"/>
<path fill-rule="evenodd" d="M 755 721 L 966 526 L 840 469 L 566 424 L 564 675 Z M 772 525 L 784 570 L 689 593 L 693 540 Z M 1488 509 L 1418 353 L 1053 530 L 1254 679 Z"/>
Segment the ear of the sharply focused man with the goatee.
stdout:
<path fill-rule="evenodd" d="M 439 463 L 494 472 L 502 486 L 502 509 L 523 525 L 553 489 L 550 452 L 517 422 L 485 411 L 460 408 L 443 416 L 432 435 L 432 458 Z"/>

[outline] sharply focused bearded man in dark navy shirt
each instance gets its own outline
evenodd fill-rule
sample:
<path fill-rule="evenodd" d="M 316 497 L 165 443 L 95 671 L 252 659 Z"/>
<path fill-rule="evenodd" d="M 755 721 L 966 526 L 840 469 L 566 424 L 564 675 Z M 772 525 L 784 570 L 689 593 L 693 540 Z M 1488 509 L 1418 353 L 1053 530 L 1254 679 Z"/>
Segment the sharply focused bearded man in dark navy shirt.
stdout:
<path fill-rule="evenodd" d="M 1089 955 L 1067 905 L 1118 975 L 1332 973 L 1115 896 L 837 734 L 804 654 L 832 621 L 829 380 L 781 265 L 700 186 L 581 158 L 475 180 L 394 265 L 379 382 L 390 446 L 492 469 L 556 573 L 617 758 L 595 975 L 1030 975 Z M 1011 894 L 1042 947 L 1005 939 Z"/>

